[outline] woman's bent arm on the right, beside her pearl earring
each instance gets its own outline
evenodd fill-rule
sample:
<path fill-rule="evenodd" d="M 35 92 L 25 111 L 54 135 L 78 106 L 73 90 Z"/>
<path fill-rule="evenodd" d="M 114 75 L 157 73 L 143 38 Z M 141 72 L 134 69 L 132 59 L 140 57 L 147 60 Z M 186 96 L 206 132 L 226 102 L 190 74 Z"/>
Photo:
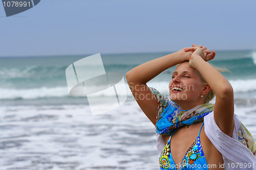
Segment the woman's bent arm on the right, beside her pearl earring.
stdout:
<path fill-rule="evenodd" d="M 233 88 L 219 71 L 206 62 L 206 54 L 201 48 L 191 47 L 190 50 L 192 48 L 195 51 L 191 55 L 188 64 L 190 67 L 193 67 L 200 72 L 210 88 L 214 91 L 216 95 L 214 107 L 215 122 L 223 133 L 231 137 L 234 128 Z M 185 51 L 189 51 L 189 49 L 186 49 Z"/>

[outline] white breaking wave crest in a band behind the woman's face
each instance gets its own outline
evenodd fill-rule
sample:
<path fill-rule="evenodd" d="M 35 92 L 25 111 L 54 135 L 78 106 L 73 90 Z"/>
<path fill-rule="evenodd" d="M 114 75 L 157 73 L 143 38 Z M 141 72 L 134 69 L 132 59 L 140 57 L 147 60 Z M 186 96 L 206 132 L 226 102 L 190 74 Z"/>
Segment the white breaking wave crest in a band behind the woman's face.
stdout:
<path fill-rule="evenodd" d="M 234 93 L 253 92 L 256 91 L 256 79 L 250 80 L 230 80 Z M 154 87 L 164 95 L 169 94 L 167 81 L 156 82 L 150 81 L 147 83 L 149 87 Z M 118 88 L 118 87 L 117 87 Z M 129 87 L 126 86 L 126 91 L 120 91 L 120 96 L 132 95 Z M 63 98 L 71 96 L 68 87 L 40 87 L 30 89 L 11 89 L 0 88 L 0 100 L 36 100 L 44 98 Z M 104 93 L 96 95 L 96 97 L 113 96 L 113 93 L 105 91 Z"/>

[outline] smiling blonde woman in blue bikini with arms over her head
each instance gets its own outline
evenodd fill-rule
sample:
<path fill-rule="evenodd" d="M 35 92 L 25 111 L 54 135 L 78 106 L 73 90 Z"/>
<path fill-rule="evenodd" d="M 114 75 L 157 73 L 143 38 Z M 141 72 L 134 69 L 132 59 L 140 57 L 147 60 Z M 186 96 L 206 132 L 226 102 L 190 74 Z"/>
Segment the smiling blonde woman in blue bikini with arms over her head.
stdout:
<path fill-rule="evenodd" d="M 234 115 L 232 86 L 206 62 L 215 55 L 193 44 L 126 74 L 137 103 L 156 127 L 161 169 L 256 169 L 255 141 Z M 169 101 L 146 83 L 177 64 Z M 214 93 L 215 105 L 207 104 Z"/>

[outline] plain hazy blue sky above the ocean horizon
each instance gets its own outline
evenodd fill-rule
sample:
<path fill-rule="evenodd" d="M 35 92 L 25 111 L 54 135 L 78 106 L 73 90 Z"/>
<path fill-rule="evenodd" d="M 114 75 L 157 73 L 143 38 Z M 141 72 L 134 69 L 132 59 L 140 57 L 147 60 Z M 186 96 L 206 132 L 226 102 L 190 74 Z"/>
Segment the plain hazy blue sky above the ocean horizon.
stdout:
<path fill-rule="evenodd" d="M 0 57 L 256 50 L 256 1 L 41 0 L 6 17 Z"/>

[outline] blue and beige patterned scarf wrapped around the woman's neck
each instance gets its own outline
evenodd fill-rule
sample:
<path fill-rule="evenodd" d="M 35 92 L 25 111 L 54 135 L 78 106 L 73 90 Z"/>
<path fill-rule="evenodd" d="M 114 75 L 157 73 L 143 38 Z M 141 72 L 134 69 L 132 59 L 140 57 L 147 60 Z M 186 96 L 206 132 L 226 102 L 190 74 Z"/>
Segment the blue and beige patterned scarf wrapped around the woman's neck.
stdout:
<path fill-rule="evenodd" d="M 214 110 L 214 104 L 202 104 L 190 110 L 181 110 L 171 101 L 157 120 L 156 132 L 170 135 L 175 129 L 184 125 L 193 125 L 204 120 L 204 116 Z"/>

